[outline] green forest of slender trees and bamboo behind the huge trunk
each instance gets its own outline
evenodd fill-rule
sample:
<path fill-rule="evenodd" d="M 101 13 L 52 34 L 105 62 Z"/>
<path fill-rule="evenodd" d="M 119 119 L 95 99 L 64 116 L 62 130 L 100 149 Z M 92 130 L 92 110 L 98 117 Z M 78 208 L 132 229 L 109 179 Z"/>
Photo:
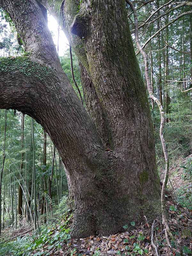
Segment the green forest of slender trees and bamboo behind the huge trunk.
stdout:
<path fill-rule="evenodd" d="M 187 3 L 133 1 L 139 20 L 140 44 L 148 42 L 145 51 L 151 85 L 165 112 L 164 139 L 171 166 L 168 188 L 175 200 L 170 205 L 170 211 L 178 215 L 181 214 L 178 205 L 189 213 L 192 211 L 192 6 Z M 27 56 L 28 53 L 18 43 L 12 20 L 7 13 L 0 11 L 1 57 Z M 146 85 L 145 65 L 135 44 L 134 17 L 128 4 L 127 14 Z M 161 31 L 157 34 L 159 29 Z M 54 33 L 58 31 L 52 31 Z M 55 42 L 56 48 L 59 47 L 58 42 Z M 68 48 L 60 56 L 60 62 L 77 95 L 81 93 L 86 107 L 78 59 L 75 54 L 71 59 Z M 156 160 L 162 178 L 164 154 L 159 138 L 160 113 L 149 96 L 148 100 L 154 124 Z M 62 243 L 67 241 L 67 244 L 70 239 L 68 224 L 73 213 L 73 202 L 67 204 L 70 199 L 65 166 L 41 125 L 31 117 L 10 109 L 0 110 L 0 170 L 3 170 L 0 174 L 0 255 L 64 255 Z M 134 222 L 132 226 L 135 226 Z M 185 240 L 183 255 L 190 255 L 192 227 L 188 226 L 186 230 L 185 234 L 181 234 Z M 142 247 L 142 241 L 147 236 L 143 237 L 142 233 L 137 233 L 137 243 L 132 244 L 133 252 L 131 247 L 123 247 L 123 250 L 117 250 L 117 254 L 155 255 L 150 254 L 149 246 Z M 159 248 L 163 243 L 158 244 Z M 71 256 L 85 255 L 76 246 L 68 253 Z M 91 253 L 100 255 L 100 249 Z M 160 255 L 164 253 L 166 250 Z"/>

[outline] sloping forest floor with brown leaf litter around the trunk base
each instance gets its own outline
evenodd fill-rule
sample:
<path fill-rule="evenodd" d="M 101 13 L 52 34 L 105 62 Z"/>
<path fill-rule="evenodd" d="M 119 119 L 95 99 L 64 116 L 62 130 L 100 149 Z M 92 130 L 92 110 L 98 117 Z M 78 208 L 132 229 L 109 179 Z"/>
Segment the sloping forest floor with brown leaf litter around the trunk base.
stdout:
<path fill-rule="evenodd" d="M 55 225 L 54 228 L 46 229 L 46 234 L 37 236 L 34 246 L 31 246 L 31 254 L 34 256 L 110 256 L 110 255 L 146 255 L 146 256 L 182 256 L 192 255 L 192 187 L 188 179 L 188 163 L 192 156 L 179 159 L 170 167 L 170 181 L 167 193 L 167 210 L 169 211 L 169 227 L 175 240 L 171 241 L 172 247 L 166 243 L 164 226 L 161 220 L 145 220 L 139 227 L 132 222 L 134 229 L 130 230 L 125 224 L 123 233 L 110 236 L 90 236 L 84 239 L 71 239 L 68 236 L 68 227 L 72 219 L 69 215 L 63 225 Z M 187 166 L 187 167 L 186 167 Z M 189 170 L 190 171 L 190 170 Z M 163 178 L 163 169 L 160 170 L 160 177 Z M 174 188 L 174 189 L 173 189 Z M 68 223 L 66 225 L 66 223 Z M 66 232 L 67 231 L 67 232 Z M 14 232 L 14 233 L 13 233 Z M 16 236 L 25 236 L 26 232 L 31 236 L 31 228 L 28 230 L 6 230 L 4 235 L 13 239 Z M 46 236 L 49 236 L 47 238 Z M 34 239 L 34 238 L 33 238 Z M 155 247 L 152 245 L 153 240 Z M 37 245 L 37 246 L 36 246 Z M 33 251 L 33 252 L 32 252 Z M 14 254 L 4 254 L 14 255 Z"/>

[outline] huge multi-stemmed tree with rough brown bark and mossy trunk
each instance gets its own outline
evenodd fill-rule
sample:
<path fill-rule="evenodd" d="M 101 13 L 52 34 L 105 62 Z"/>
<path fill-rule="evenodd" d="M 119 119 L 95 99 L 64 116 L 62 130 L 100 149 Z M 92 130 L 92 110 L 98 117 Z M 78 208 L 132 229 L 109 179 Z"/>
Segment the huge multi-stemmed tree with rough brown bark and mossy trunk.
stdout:
<path fill-rule="evenodd" d="M 72 235 L 116 233 L 160 215 L 153 125 L 124 0 L 0 0 L 25 57 L 0 59 L 0 108 L 28 114 L 50 135 L 75 200 Z M 46 9 L 81 68 L 86 109 L 63 72 Z"/>

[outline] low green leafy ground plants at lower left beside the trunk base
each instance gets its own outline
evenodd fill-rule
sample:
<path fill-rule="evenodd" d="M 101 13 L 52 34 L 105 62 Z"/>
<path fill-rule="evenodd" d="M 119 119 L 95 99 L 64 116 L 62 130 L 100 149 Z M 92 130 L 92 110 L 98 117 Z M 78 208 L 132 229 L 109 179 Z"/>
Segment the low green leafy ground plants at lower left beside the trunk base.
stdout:
<path fill-rule="evenodd" d="M 32 236 L 18 237 L 17 240 L 1 244 L 0 255 L 6 253 L 14 256 L 49 255 L 49 250 L 61 248 L 61 244 L 70 239 L 70 223 L 72 215 L 63 214 L 57 219 L 57 224 L 42 226 L 40 234 L 34 232 Z"/>

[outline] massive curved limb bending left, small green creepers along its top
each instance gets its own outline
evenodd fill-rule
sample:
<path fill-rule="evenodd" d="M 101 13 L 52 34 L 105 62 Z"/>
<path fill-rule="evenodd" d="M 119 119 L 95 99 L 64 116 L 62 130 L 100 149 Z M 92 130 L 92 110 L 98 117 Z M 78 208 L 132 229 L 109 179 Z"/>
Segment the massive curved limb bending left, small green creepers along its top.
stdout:
<path fill-rule="evenodd" d="M 29 58 L 0 59 L 0 108 L 17 109 L 40 123 L 66 165 L 67 159 L 74 163 L 77 155 L 79 164 L 83 164 L 95 148 L 103 148 L 96 127 L 66 76 L 57 76 Z"/>

